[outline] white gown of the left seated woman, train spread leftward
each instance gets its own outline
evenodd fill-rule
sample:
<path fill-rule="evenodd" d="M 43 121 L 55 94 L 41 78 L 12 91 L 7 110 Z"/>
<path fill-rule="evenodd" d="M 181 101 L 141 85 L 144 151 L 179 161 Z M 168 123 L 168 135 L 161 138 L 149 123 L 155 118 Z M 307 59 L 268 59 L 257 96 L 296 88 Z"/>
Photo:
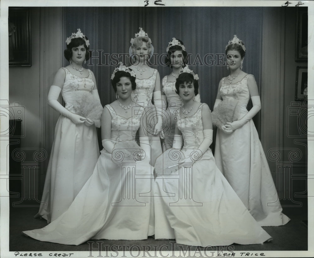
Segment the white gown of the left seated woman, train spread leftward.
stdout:
<path fill-rule="evenodd" d="M 143 107 L 138 107 L 130 118 L 117 115 L 111 105 L 105 108 L 112 116 L 111 141 L 134 141 Z M 153 167 L 145 161 L 117 166 L 112 159 L 111 153 L 103 149 L 93 174 L 68 210 L 46 227 L 23 233 L 66 245 L 79 245 L 89 239 L 140 240 L 154 234 L 154 217 L 150 217 L 153 204 L 147 194 L 151 191 Z"/>

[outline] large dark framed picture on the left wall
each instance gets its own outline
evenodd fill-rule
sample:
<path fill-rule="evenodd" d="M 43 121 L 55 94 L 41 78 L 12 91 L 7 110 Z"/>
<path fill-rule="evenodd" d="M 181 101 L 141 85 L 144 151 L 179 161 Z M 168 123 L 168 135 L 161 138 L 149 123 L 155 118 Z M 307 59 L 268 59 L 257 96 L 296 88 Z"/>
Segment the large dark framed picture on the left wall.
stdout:
<path fill-rule="evenodd" d="M 8 8 L 9 66 L 31 66 L 30 8 Z"/>

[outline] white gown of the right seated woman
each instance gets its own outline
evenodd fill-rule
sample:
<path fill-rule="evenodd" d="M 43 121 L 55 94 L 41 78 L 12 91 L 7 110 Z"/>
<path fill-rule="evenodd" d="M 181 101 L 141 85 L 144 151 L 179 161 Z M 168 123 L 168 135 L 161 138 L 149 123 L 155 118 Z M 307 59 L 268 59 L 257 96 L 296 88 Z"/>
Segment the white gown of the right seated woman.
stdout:
<path fill-rule="evenodd" d="M 190 117 L 178 116 L 185 157 L 203 142 L 203 105 Z M 261 244 L 271 238 L 221 174 L 209 148 L 192 167 L 157 176 L 154 195 L 155 239 L 175 238 L 178 244 L 208 246 Z"/>

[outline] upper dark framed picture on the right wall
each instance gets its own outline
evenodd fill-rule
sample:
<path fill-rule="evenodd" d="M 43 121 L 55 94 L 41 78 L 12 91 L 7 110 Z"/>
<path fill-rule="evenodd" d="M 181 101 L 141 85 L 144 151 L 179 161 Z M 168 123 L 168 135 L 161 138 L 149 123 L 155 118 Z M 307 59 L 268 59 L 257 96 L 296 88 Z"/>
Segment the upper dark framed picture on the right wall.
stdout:
<path fill-rule="evenodd" d="M 298 7 L 296 15 L 296 42 L 295 42 L 295 61 L 307 61 L 307 7 Z"/>

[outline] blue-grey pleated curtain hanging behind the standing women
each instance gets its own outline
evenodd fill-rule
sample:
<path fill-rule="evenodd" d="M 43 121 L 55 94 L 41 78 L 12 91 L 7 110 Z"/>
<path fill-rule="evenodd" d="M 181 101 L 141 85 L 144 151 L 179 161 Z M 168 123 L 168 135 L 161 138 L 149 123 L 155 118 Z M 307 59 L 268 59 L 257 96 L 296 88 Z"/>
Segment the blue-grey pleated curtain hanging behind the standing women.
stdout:
<path fill-rule="evenodd" d="M 181 39 L 191 54 L 190 68 L 200 78 L 201 100 L 213 109 L 219 80 L 229 72 L 225 62 L 225 46 L 237 35 L 246 45 L 243 70 L 255 76 L 260 85 L 262 9 L 254 7 L 66 7 L 64 8 L 65 35 L 80 28 L 89 38 L 93 56 L 87 66 L 95 74 L 102 105 L 111 103 L 115 94 L 110 83 L 111 73 L 117 64 L 112 54 L 128 54 L 130 39 L 142 27 L 148 33 L 157 58 L 168 46 L 172 37 Z M 209 55 L 210 54 L 210 55 Z M 206 57 L 204 62 L 204 57 Z M 110 66 L 110 62 L 114 66 Z M 153 58 L 154 59 L 154 58 Z M 220 61 L 219 61 L 220 59 Z M 162 58 L 164 62 L 164 58 Z M 100 62 L 100 63 L 99 63 Z M 160 79 L 170 68 L 151 61 L 158 69 Z M 220 62 L 220 63 L 219 63 Z M 128 58 L 126 63 L 129 64 Z M 64 61 L 64 65 L 68 65 Z"/>

